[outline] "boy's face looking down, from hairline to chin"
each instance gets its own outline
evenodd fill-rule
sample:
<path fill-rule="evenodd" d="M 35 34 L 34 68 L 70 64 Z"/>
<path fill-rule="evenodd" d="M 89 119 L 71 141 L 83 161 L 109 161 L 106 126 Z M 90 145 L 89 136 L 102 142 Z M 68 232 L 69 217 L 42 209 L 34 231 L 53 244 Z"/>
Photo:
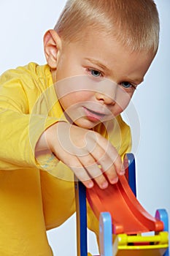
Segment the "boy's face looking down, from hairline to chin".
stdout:
<path fill-rule="evenodd" d="M 95 31 L 88 31 L 81 42 L 63 43 L 53 70 L 63 110 L 86 129 L 114 118 L 127 107 L 152 59 L 151 53 L 131 53 L 109 35 Z"/>

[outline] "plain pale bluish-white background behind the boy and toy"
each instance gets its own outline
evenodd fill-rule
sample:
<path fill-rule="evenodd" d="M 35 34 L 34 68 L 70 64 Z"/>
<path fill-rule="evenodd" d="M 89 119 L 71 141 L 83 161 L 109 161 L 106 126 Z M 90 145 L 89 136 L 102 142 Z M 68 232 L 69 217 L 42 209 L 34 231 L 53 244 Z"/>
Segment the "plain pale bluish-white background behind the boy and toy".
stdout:
<path fill-rule="evenodd" d="M 65 2 L 0 0 L 0 73 L 29 61 L 45 64 L 42 37 L 47 29 L 55 26 Z M 156 0 L 155 3 L 161 19 L 160 48 L 133 99 L 140 125 L 132 122 L 137 197 L 152 215 L 157 208 L 166 208 L 170 214 L 170 1 Z M 128 115 L 125 114 L 127 118 Z M 76 255 L 75 216 L 58 229 L 50 230 L 47 236 L 54 255 Z M 88 244 L 90 252 L 97 254 L 96 241 L 91 234 Z"/>

